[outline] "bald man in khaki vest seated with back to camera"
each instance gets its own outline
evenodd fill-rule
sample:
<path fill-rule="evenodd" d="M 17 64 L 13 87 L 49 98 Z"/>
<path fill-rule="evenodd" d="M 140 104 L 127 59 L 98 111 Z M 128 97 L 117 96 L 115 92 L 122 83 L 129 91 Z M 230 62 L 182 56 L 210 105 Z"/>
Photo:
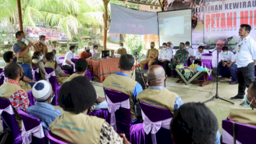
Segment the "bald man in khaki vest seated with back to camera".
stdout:
<path fill-rule="evenodd" d="M 166 79 L 167 75 L 162 66 L 151 66 L 147 72 L 149 87 L 138 94 L 137 100 L 170 110 L 174 114 L 174 111 L 184 103 L 178 94 L 170 92 L 164 87 Z"/>

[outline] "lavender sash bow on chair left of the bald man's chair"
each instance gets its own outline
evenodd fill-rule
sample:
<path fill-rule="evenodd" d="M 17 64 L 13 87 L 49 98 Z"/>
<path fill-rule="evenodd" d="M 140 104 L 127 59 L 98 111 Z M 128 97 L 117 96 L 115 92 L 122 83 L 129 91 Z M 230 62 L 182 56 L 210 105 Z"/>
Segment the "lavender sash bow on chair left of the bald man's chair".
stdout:
<path fill-rule="evenodd" d="M 108 102 L 108 111 L 110 112 L 110 126 L 113 126 L 114 130 L 116 131 L 116 116 L 115 112 L 118 110 L 120 107 L 122 108 L 127 108 L 130 109 L 130 101 L 129 99 L 124 100 L 122 102 L 116 102 L 113 103 L 108 96 L 106 96 L 107 102 Z"/>

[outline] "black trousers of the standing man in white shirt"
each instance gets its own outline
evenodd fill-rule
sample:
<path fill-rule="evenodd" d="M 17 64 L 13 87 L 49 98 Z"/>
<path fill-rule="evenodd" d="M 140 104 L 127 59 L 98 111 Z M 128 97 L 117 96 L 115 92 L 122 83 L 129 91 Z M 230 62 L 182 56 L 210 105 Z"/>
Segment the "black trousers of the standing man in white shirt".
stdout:
<path fill-rule="evenodd" d="M 254 62 L 246 67 L 238 68 L 238 96 L 240 98 L 244 98 L 245 89 L 249 88 L 250 84 L 255 80 L 254 71 Z"/>

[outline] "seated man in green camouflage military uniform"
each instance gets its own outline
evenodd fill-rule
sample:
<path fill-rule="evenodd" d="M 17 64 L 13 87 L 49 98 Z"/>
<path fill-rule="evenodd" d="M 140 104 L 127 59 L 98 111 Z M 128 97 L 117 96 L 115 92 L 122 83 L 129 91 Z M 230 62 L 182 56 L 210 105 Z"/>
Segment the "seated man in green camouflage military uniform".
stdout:
<path fill-rule="evenodd" d="M 174 70 L 178 64 L 185 65 L 188 60 L 188 51 L 185 49 L 185 44 L 180 43 L 180 50 L 177 50 L 174 55 L 172 62 L 169 63 L 169 68 Z"/>

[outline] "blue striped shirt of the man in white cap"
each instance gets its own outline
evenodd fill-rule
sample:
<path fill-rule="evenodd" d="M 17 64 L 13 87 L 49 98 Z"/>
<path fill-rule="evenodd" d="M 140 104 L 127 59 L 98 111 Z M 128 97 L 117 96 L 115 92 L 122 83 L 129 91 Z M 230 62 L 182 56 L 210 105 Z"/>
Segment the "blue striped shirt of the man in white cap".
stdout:
<path fill-rule="evenodd" d="M 36 102 L 34 106 L 28 107 L 26 113 L 40 119 L 44 132 L 49 131 L 50 124 L 61 115 L 60 110 L 55 110 L 51 104 Z"/>

